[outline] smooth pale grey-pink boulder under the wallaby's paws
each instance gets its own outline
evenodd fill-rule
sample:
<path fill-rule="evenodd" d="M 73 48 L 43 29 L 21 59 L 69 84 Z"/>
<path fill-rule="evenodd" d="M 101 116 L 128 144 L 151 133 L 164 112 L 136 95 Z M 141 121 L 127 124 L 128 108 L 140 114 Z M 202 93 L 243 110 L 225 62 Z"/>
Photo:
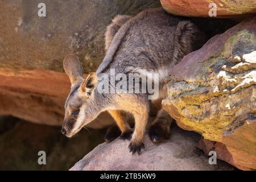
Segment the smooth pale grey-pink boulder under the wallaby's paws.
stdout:
<path fill-rule="evenodd" d="M 177 126 L 171 129 L 171 138 L 154 144 L 144 139 L 145 150 L 141 155 L 131 155 L 129 141 L 115 139 L 102 143 L 85 155 L 70 170 L 234 170 L 228 164 L 217 161 L 210 165 L 207 156 L 196 147 L 200 135 L 184 131 Z"/>

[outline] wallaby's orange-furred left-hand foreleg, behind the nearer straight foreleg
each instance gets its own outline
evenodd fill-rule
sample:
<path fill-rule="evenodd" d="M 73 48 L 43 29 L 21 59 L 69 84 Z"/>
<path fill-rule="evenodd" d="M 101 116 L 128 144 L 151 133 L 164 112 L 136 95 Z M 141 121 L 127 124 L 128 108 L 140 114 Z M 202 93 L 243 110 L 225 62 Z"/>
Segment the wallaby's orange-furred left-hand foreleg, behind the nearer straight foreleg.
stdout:
<path fill-rule="evenodd" d="M 126 122 L 126 117 L 122 113 L 121 110 L 108 110 L 110 115 L 114 118 L 115 122 L 117 123 L 117 126 L 121 130 L 120 139 L 123 140 L 130 140 L 131 134 L 133 133 L 133 130 L 129 126 L 129 124 Z"/>

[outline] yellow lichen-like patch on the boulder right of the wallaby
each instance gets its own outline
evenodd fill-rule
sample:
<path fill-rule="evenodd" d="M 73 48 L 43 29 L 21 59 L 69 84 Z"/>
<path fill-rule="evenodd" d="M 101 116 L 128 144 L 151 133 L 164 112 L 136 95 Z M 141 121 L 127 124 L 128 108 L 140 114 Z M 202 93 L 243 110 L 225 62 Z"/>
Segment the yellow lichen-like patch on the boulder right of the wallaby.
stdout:
<path fill-rule="evenodd" d="M 197 100 L 199 97 L 201 97 L 201 101 L 200 99 Z M 175 119 L 184 125 L 188 125 L 194 131 L 202 133 L 205 138 L 218 141 L 221 139 L 226 126 L 233 121 L 230 115 L 234 115 L 236 109 L 228 110 L 226 115 L 220 115 L 219 111 L 214 112 L 214 108 L 205 106 L 213 106 L 211 101 L 208 101 L 209 96 L 204 97 L 200 95 L 199 97 L 191 96 L 188 93 L 186 96 L 180 97 L 177 100 L 169 100 L 177 108 L 179 115 L 183 116 L 182 118 Z M 212 100 L 214 100 L 214 97 Z M 164 102 L 163 105 L 164 108 L 168 107 L 165 106 Z M 173 115 L 175 114 L 173 113 Z"/>

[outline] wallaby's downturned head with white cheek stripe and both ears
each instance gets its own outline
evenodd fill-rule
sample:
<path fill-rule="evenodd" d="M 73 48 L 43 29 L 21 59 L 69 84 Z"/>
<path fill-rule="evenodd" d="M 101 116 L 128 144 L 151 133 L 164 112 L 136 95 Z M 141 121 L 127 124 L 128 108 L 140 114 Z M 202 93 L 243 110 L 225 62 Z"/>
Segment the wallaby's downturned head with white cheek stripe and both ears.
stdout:
<path fill-rule="evenodd" d="M 97 117 L 94 89 L 98 84 L 95 72 L 83 77 L 82 65 L 75 55 L 64 59 L 64 70 L 71 81 L 71 90 L 65 102 L 65 118 L 61 133 L 72 137 Z"/>

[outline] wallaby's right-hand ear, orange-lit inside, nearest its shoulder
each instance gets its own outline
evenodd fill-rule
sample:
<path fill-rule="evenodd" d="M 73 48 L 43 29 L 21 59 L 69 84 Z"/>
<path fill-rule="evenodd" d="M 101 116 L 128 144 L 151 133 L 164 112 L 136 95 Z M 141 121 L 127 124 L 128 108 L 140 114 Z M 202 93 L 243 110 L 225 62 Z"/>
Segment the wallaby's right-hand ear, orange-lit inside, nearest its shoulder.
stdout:
<path fill-rule="evenodd" d="M 90 97 L 92 91 L 96 88 L 98 84 L 98 77 L 95 72 L 90 73 L 86 79 L 82 82 L 80 89 L 86 97 Z"/>

